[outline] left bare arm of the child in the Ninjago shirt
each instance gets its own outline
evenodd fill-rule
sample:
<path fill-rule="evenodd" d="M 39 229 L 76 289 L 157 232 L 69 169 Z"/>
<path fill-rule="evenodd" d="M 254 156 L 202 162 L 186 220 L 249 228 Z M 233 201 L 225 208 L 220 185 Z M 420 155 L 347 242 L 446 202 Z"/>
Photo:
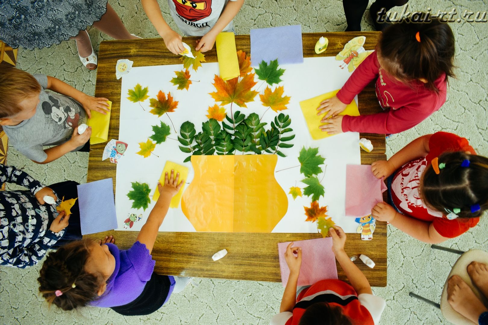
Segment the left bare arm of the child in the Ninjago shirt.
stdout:
<path fill-rule="evenodd" d="M 164 45 L 173 54 L 179 54 L 184 51 L 182 37 L 169 27 L 163 18 L 161 8 L 156 0 L 141 0 L 147 18 L 153 24 L 158 34 L 163 38 Z"/>

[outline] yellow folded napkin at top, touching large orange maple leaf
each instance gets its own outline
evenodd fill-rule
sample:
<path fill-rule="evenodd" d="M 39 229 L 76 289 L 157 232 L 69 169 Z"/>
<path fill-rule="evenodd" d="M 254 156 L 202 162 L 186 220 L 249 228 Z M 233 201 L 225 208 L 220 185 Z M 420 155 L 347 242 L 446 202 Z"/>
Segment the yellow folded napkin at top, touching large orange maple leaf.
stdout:
<path fill-rule="evenodd" d="M 237 60 L 236 38 L 232 32 L 224 32 L 215 39 L 217 58 L 219 59 L 220 76 L 224 80 L 238 77 L 239 61 Z"/>

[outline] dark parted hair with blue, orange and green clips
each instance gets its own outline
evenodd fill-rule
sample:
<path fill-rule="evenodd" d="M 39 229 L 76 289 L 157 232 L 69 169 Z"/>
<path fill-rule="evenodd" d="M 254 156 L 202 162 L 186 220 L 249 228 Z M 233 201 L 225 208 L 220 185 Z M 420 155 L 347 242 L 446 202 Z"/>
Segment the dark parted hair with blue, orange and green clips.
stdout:
<path fill-rule="evenodd" d="M 468 167 L 462 167 L 463 160 L 469 160 Z M 422 175 L 420 196 L 431 209 L 444 212 L 455 208 L 460 218 L 480 216 L 488 209 L 488 158 L 463 151 L 442 153 L 439 165 L 446 166 L 434 172 L 427 167 Z M 479 204 L 480 210 L 472 213 L 471 205 Z"/>

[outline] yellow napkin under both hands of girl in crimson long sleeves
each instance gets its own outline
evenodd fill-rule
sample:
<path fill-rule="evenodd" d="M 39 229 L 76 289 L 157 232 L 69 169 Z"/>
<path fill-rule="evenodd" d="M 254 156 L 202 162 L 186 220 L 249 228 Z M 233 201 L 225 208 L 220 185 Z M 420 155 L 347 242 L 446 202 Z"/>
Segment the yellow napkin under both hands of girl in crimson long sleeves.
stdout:
<path fill-rule="evenodd" d="M 306 99 L 300 102 L 300 107 L 302 108 L 302 113 L 305 117 L 305 121 L 308 126 L 308 131 L 310 132 L 312 139 L 319 140 L 333 135 L 333 134 L 327 134 L 327 132 L 324 132 L 321 129 L 319 129 L 319 126 L 327 124 L 327 123 L 322 123 L 320 121 L 325 116 L 325 114 L 327 114 L 327 112 L 324 113 L 323 115 L 318 116 L 317 107 L 320 106 L 320 103 L 323 100 L 334 97 L 339 90 L 340 89 L 334 90 L 327 94 Z M 346 109 L 339 115 L 359 116 L 358 106 L 356 105 L 354 99 L 351 101 L 349 105 L 346 106 Z"/>

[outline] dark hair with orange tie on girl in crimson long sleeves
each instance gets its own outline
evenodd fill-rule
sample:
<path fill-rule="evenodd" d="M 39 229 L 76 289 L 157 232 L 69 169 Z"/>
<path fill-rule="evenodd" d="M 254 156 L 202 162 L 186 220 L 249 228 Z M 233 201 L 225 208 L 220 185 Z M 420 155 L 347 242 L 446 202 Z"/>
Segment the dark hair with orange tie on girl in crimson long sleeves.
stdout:
<path fill-rule="evenodd" d="M 434 81 L 443 73 L 446 79 L 454 76 L 454 35 L 447 23 L 431 20 L 391 24 L 383 31 L 376 50 L 388 74 L 405 83 L 424 78 L 425 87 L 438 93 Z"/>

